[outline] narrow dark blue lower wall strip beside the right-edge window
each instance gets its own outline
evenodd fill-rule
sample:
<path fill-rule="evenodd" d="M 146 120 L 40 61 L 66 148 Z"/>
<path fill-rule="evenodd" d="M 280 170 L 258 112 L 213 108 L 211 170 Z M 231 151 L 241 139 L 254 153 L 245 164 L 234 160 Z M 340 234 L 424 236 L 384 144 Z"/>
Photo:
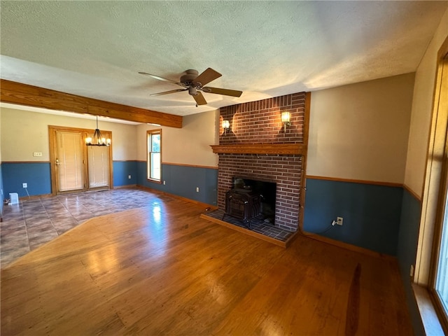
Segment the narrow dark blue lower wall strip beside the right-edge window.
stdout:
<path fill-rule="evenodd" d="M 403 190 L 397 257 L 403 286 L 405 288 L 407 307 L 409 307 L 409 314 L 411 316 L 415 335 L 425 335 L 419 308 L 415 302 L 410 277 L 411 265 L 415 266 L 416 261 L 420 216 L 421 202 L 409 193 L 408 190 Z"/>

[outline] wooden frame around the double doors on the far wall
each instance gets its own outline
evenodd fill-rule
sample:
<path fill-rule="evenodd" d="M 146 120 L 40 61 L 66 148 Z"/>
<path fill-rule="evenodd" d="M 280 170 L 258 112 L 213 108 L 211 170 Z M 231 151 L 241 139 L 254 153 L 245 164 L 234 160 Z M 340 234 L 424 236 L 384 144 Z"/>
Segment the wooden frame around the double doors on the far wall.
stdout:
<path fill-rule="evenodd" d="M 112 169 L 112 144 L 108 146 L 109 148 L 109 188 L 89 188 L 89 172 L 88 172 L 88 162 L 87 162 L 87 146 L 83 149 L 83 163 L 84 163 L 84 188 L 80 191 L 64 191 L 61 193 L 57 193 L 57 173 L 56 173 L 56 132 L 57 131 L 76 131 L 81 132 L 83 139 L 87 137 L 87 134 L 93 134 L 94 130 L 88 130 L 85 128 L 78 127 L 65 127 L 65 126 L 55 126 L 48 125 L 48 139 L 50 144 L 50 179 L 51 179 L 51 195 L 55 196 L 58 194 L 67 194 L 67 193 L 83 193 L 85 191 L 96 191 L 96 190 L 108 190 L 113 189 L 113 169 Z M 102 134 L 107 134 L 109 139 L 112 139 L 112 132 L 110 131 L 101 131 Z"/>

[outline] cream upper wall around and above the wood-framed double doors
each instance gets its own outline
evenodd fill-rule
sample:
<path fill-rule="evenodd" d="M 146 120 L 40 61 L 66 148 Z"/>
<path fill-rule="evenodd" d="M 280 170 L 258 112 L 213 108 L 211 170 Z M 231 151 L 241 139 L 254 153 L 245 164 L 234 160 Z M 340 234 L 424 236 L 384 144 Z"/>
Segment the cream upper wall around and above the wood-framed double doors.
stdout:
<path fill-rule="evenodd" d="M 50 161 L 48 125 L 92 130 L 96 122 L 90 119 L 56 116 L 54 114 L 1 108 L 1 160 Z M 75 115 L 76 116 L 76 115 Z M 113 160 L 135 160 L 137 135 L 134 125 L 99 122 L 99 129 L 112 132 Z M 34 157 L 42 152 L 42 157 Z"/>

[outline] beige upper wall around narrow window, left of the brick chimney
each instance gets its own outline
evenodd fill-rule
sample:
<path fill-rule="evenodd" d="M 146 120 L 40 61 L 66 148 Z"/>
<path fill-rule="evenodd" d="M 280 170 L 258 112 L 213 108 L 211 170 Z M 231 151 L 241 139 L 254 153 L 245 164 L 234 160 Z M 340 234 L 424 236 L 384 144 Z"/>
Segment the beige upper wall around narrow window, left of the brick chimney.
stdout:
<path fill-rule="evenodd" d="M 219 111 L 216 110 L 184 116 L 181 129 L 139 125 L 137 160 L 146 161 L 146 131 L 162 128 L 162 162 L 218 167 L 218 155 L 210 147 L 219 143 L 218 123 Z"/>

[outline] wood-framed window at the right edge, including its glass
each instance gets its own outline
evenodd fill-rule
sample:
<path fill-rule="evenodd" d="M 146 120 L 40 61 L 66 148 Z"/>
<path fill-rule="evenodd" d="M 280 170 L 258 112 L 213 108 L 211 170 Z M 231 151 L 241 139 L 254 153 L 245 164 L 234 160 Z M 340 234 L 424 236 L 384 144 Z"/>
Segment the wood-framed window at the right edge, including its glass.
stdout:
<path fill-rule="evenodd" d="M 414 281 L 432 299 L 423 302 L 423 324 L 448 335 L 448 38 L 437 55 L 435 84 Z"/>

